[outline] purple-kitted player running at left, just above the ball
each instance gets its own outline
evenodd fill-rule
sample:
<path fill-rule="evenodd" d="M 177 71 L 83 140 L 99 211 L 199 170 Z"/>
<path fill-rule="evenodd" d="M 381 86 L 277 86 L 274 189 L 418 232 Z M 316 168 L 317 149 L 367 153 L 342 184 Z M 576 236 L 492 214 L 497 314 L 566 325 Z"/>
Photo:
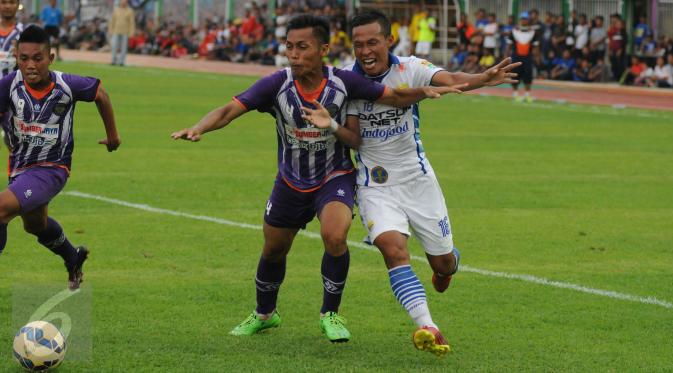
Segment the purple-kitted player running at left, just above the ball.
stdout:
<path fill-rule="evenodd" d="M 7 243 L 7 224 L 21 216 L 26 232 L 63 258 L 68 287 L 75 290 L 89 251 L 73 247 L 47 213 L 70 174 L 75 103 L 96 102 L 107 133 L 99 143 L 108 151 L 116 150 L 120 140 L 100 80 L 50 71 L 54 60 L 50 50 L 49 35 L 29 26 L 17 42 L 19 71 L 0 80 L 0 113 L 10 116 L 4 125 L 11 148 L 9 187 L 0 193 L 0 252 Z"/>

